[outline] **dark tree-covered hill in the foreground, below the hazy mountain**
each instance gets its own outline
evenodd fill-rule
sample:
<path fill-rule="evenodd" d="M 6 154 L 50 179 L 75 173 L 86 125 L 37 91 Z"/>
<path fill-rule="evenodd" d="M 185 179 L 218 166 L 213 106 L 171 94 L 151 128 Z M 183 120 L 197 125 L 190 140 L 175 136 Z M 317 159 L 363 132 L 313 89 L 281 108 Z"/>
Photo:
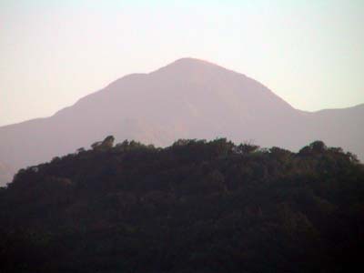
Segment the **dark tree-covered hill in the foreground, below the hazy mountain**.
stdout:
<path fill-rule="evenodd" d="M 363 253 L 364 166 L 321 141 L 107 136 L 0 190 L 1 272 L 360 272 Z"/>

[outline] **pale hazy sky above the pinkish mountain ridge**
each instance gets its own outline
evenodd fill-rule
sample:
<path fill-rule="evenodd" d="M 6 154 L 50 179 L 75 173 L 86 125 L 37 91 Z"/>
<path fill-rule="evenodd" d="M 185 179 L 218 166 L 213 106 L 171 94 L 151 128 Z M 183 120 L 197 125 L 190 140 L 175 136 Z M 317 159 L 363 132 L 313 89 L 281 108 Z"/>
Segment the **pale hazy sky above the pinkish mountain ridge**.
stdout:
<path fill-rule="evenodd" d="M 363 0 L 0 0 L 0 126 L 177 58 L 257 79 L 304 110 L 364 103 Z"/>

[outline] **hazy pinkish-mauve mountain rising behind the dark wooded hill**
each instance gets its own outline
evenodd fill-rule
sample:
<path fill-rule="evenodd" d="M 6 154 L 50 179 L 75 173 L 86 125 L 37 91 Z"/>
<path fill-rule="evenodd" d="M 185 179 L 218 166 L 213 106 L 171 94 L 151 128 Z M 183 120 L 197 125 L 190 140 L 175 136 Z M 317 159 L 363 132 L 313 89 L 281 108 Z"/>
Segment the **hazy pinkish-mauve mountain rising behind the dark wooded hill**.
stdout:
<path fill-rule="evenodd" d="M 226 136 L 293 150 L 321 139 L 363 159 L 362 116 L 364 105 L 300 111 L 248 76 L 183 58 L 149 74 L 124 76 L 54 116 L 0 127 L 0 162 L 27 167 L 106 135 L 157 146 Z"/>

